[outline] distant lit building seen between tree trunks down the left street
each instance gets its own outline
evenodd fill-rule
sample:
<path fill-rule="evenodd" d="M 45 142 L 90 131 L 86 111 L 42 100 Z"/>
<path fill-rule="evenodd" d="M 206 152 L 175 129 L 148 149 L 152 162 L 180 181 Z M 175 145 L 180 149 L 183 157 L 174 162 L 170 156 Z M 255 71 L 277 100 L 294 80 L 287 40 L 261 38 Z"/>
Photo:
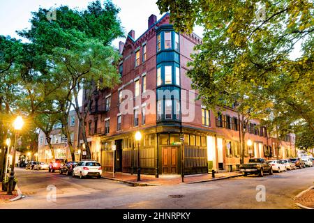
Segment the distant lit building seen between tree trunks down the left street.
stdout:
<path fill-rule="evenodd" d="M 62 124 L 56 123 L 50 134 L 51 144 L 54 149 L 55 159 L 62 159 L 71 161 L 70 148 L 68 146 L 68 140 L 72 142 L 73 148 L 75 149 L 75 160 L 80 160 L 80 126 L 76 112 L 70 111 L 68 116 L 68 128 L 70 130 L 70 139 L 62 133 Z M 38 161 L 40 162 L 52 162 L 52 151 L 50 150 L 45 133 L 40 130 L 38 134 Z"/>

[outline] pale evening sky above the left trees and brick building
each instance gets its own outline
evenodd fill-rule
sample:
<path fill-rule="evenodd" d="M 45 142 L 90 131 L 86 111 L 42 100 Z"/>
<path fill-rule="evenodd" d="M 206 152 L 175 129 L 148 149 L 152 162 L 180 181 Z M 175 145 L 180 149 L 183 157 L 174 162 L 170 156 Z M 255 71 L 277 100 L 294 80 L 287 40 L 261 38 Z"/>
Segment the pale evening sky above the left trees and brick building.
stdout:
<path fill-rule="evenodd" d="M 31 12 L 43 8 L 57 8 L 61 5 L 70 8 L 85 9 L 92 0 L 0 0 L 0 35 L 20 38 L 15 31 L 30 28 Z M 135 31 L 135 39 L 147 30 L 147 20 L 151 14 L 160 19 L 157 0 L 112 0 L 121 10 L 119 19 L 127 34 L 131 29 Z M 103 2 L 103 1 L 102 1 Z M 58 18 L 57 18 L 58 19 Z M 195 33 L 202 37 L 202 28 L 196 27 Z M 119 47 L 119 38 L 112 42 Z"/>

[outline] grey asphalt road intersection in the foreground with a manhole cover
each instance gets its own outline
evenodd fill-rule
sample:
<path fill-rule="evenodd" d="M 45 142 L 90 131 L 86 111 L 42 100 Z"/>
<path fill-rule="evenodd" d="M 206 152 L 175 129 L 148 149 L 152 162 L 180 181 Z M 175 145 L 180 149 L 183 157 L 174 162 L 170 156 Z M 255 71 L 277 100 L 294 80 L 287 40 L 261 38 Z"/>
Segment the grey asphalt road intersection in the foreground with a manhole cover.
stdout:
<path fill-rule="evenodd" d="M 25 197 L 0 202 L 0 208 L 297 208 L 292 198 L 314 183 L 314 167 L 263 178 L 241 176 L 207 183 L 149 187 L 96 178 L 81 180 L 47 171 L 19 168 L 16 171 Z M 260 192 L 257 185 L 264 187 L 265 201 L 257 201 Z"/>

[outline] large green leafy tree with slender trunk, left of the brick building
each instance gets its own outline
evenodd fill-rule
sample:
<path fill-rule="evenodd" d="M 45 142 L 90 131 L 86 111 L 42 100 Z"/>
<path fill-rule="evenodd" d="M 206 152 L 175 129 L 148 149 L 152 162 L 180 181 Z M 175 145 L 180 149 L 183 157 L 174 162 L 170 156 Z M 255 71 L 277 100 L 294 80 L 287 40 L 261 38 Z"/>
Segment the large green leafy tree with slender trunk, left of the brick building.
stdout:
<path fill-rule="evenodd" d="M 95 87 L 92 83 L 97 83 L 98 88 L 105 88 L 119 82 L 116 68 L 119 54 L 109 46 L 114 38 L 123 34 L 117 18 L 119 9 L 110 1 L 105 1 L 103 6 L 100 1 L 95 1 L 84 11 L 61 6 L 55 9 L 57 20 L 51 21 L 46 17 L 48 11 L 39 8 L 38 12 L 33 13 L 31 29 L 20 31 L 19 34 L 28 38 L 36 49 L 38 61 L 35 61 L 35 65 L 38 66 L 36 70 L 40 75 L 33 73 L 32 78 L 45 77 L 49 82 L 49 78 L 54 77 L 57 78 L 56 81 L 62 82 L 56 89 L 50 89 L 53 92 L 62 89 L 64 94 L 59 96 L 66 98 L 74 107 L 82 128 L 84 143 L 87 145 L 87 158 L 90 158 L 84 125 L 89 107 L 81 112 L 78 94 L 83 87 Z M 28 92 L 33 95 L 31 91 Z M 50 94 L 44 101 L 47 98 L 50 98 Z M 52 98 L 51 100 L 53 101 Z M 55 105 L 59 107 L 55 110 L 61 112 L 61 105 Z"/>

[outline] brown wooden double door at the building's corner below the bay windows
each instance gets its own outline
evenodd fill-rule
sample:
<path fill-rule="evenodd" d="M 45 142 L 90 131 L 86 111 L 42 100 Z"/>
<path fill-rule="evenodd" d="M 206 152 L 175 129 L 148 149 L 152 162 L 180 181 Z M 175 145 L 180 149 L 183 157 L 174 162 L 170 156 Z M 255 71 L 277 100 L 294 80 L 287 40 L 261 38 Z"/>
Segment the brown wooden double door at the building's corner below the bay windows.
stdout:
<path fill-rule="evenodd" d="M 178 147 L 162 148 L 163 174 L 178 174 Z"/>

